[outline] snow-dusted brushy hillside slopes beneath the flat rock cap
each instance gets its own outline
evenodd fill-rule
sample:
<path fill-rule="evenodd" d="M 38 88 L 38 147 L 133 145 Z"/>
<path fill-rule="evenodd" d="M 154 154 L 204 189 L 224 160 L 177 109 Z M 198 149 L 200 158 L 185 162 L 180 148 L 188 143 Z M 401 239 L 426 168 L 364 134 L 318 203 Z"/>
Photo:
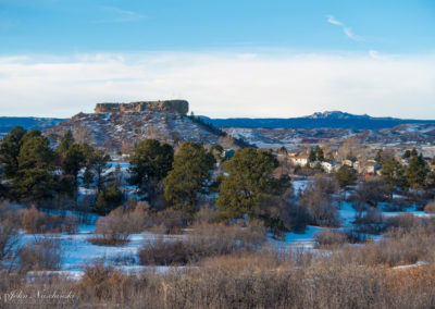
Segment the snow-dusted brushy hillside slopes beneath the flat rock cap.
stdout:
<path fill-rule="evenodd" d="M 79 113 L 44 131 L 54 144 L 72 132 L 77 141 L 86 141 L 97 149 L 128 153 L 139 140 L 156 138 L 177 146 L 183 141 L 204 145 L 221 144 L 238 147 L 239 141 L 220 129 L 212 128 L 187 115 L 144 110 L 135 112 Z"/>

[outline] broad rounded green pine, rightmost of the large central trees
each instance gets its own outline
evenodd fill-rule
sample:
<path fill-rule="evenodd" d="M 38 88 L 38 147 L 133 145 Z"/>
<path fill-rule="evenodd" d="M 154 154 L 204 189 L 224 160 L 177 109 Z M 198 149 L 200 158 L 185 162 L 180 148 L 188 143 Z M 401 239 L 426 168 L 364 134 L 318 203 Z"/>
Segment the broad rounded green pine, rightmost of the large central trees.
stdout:
<path fill-rule="evenodd" d="M 260 203 L 273 195 L 281 195 L 290 186 L 289 178 L 275 178 L 276 158 L 268 151 L 246 148 L 236 151 L 225 163 L 228 176 L 220 186 L 216 207 L 222 219 L 254 217 Z"/>

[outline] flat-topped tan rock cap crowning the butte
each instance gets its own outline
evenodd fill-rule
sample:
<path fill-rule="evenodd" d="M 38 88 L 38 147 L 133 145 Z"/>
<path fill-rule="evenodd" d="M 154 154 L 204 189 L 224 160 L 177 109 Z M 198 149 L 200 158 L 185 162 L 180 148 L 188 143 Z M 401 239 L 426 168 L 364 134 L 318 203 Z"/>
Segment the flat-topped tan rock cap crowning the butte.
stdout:
<path fill-rule="evenodd" d="M 139 101 L 130 103 L 97 103 L 96 113 L 158 111 L 187 114 L 189 103 L 186 100 Z"/>

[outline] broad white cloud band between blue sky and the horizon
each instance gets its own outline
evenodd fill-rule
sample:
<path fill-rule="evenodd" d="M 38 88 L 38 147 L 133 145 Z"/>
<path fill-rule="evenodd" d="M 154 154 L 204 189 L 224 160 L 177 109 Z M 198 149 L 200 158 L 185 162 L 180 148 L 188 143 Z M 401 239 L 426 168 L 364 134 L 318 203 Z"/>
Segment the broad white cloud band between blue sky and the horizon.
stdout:
<path fill-rule="evenodd" d="M 154 52 L 0 58 L 2 115 L 71 116 L 96 102 L 183 98 L 196 114 L 344 110 L 435 119 L 435 55 Z M 378 54 L 377 54 L 378 55 Z"/>

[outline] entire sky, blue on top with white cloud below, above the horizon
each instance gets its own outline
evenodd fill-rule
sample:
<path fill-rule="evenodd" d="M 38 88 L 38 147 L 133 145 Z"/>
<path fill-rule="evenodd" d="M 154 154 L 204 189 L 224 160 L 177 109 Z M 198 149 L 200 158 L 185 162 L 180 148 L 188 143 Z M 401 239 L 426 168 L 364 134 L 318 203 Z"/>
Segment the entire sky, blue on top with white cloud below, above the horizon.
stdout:
<path fill-rule="evenodd" d="M 0 0 L 0 115 L 435 119 L 435 1 Z"/>

